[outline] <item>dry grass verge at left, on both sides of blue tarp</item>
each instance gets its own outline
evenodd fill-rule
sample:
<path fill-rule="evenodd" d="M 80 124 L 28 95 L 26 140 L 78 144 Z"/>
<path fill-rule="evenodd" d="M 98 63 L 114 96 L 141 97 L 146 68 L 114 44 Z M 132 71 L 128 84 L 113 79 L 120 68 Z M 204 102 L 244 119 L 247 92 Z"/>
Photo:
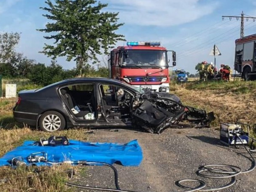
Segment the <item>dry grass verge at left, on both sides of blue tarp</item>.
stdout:
<path fill-rule="evenodd" d="M 24 141 L 38 141 L 48 138 L 51 133 L 46 133 L 15 123 L 12 117 L 12 108 L 16 99 L 0 99 L 0 157 L 6 152 L 21 145 Z M 54 133 L 55 136 L 67 136 L 69 139 L 87 141 L 85 129 L 68 129 Z M 68 179 L 63 171 L 69 167 L 39 167 L 35 172 L 33 167 L 13 169 L 0 167 L 0 192 L 72 192 L 72 188 L 65 186 Z M 77 167 L 76 167 L 77 168 Z M 80 169 L 84 171 L 84 169 Z M 80 171 L 78 170 L 78 171 Z"/>

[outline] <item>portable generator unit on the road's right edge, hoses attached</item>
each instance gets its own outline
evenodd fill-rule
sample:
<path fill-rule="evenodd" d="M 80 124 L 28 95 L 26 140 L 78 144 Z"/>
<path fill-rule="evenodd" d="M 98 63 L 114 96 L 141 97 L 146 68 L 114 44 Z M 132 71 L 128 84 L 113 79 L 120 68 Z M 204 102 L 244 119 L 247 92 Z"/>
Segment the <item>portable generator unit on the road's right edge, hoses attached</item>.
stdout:
<path fill-rule="evenodd" d="M 236 124 L 220 124 L 220 142 L 224 145 L 248 145 L 249 144 L 249 125 Z M 242 142 L 238 138 L 241 138 Z"/>

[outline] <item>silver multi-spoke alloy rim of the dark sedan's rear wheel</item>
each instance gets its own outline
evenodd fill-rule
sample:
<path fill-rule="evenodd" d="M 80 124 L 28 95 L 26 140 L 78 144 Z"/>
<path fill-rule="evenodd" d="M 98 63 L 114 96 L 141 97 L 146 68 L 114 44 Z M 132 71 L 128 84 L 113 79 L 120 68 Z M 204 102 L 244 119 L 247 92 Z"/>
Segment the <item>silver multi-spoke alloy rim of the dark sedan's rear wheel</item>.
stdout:
<path fill-rule="evenodd" d="M 47 115 L 43 120 L 44 128 L 49 132 L 57 131 L 61 126 L 61 119 L 56 115 Z"/>

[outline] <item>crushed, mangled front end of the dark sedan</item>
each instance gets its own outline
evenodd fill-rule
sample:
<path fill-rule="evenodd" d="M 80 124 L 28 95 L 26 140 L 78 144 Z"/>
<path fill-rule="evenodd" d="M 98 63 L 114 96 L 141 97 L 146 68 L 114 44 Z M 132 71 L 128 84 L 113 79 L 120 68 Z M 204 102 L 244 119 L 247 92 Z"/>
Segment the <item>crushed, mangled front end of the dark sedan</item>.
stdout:
<path fill-rule="evenodd" d="M 205 110 L 184 106 L 173 94 L 146 92 L 142 94 L 132 111 L 133 123 L 137 128 L 161 134 L 166 128 L 181 121 L 194 123 L 198 127 L 209 127 L 214 114 Z"/>

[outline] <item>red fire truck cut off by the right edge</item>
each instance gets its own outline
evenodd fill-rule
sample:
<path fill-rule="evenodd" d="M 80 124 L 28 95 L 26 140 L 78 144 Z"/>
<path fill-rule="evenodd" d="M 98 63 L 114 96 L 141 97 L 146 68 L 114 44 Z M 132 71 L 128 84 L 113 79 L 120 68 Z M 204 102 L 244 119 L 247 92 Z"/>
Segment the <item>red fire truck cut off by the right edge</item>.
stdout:
<path fill-rule="evenodd" d="M 236 40 L 234 67 L 243 79 L 256 79 L 256 34 Z"/>

